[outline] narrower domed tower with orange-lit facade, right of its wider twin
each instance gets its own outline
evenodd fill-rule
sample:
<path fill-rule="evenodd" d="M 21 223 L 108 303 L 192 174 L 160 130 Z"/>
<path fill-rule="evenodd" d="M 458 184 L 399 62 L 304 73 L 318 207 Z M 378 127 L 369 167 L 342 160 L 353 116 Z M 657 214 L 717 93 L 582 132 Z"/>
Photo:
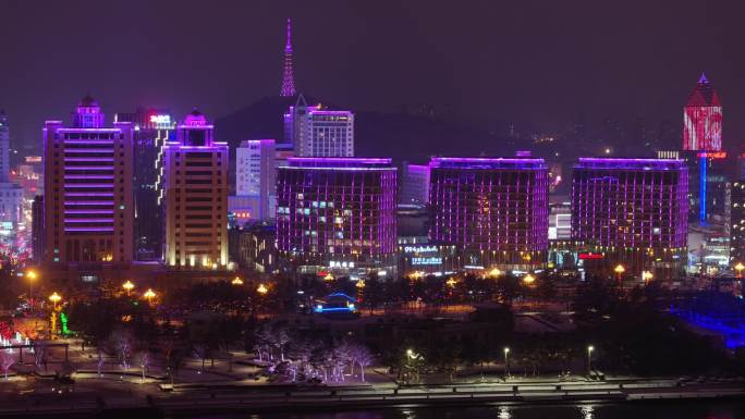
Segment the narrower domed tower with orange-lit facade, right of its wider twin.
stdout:
<path fill-rule="evenodd" d="M 163 147 L 164 260 L 171 267 L 228 263 L 228 145 L 196 109 Z"/>

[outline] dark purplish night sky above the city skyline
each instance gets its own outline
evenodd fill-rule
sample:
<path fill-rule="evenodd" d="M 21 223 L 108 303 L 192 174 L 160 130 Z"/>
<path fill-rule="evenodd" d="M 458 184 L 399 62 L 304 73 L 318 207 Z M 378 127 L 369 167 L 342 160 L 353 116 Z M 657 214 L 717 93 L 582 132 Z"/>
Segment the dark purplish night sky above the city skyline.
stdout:
<path fill-rule="evenodd" d="M 582 112 L 679 121 L 706 71 L 731 147 L 745 134 L 743 12 L 703 0 L 0 0 L 0 108 L 19 139 L 39 143 L 44 120 L 66 120 L 87 91 L 109 120 L 137 104 L 221 116 L 279 91 L 292 16 L 300 90 L 352 109 L 426 102 L 547 130 Z"/>

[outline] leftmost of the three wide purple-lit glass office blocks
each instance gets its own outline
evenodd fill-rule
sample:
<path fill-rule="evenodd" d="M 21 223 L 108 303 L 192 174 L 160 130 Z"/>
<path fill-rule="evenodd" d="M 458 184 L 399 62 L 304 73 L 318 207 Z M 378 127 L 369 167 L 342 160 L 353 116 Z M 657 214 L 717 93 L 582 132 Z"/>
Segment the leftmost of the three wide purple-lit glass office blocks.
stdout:
<path fill-rule="evenodd" d="M 277 174 L 277 248 L 298 274 L 395 270 L 391 159 L 290 158 Z"/>

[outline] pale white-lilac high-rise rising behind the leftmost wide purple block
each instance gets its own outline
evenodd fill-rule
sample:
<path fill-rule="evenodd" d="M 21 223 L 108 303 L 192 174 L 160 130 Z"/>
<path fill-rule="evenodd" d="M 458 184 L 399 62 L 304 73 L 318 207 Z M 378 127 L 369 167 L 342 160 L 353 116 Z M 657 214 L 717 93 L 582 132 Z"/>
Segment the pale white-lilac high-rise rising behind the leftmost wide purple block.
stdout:
<path fill-rule="evenodd" d="M 354 114 L 312 108 L 305 114 L 305 136 L 295 149 L 300 157 L 354 156 Z"/>

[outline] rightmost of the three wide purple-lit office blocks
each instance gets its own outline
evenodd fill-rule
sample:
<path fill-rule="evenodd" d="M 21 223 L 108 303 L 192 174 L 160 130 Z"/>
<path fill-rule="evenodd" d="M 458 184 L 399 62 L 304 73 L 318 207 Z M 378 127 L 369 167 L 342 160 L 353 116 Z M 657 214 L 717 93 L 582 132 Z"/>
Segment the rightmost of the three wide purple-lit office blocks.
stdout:
<path fill-rule="evenodd" d="M 682 160 L 581 158 L 572 176 L 572 238 L 642 279 L 671 279 L 686 257 L 688 173 Z M 600 268 L 599 268 L 600 269 Z"/>

